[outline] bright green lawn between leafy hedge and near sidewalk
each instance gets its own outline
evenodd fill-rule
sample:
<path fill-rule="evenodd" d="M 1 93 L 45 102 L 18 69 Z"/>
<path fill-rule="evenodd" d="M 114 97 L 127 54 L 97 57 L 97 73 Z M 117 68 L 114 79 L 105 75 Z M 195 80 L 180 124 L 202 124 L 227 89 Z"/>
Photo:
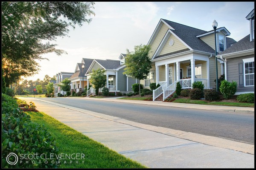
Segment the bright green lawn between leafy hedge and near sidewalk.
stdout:
<path fill-rule="evenodd" d="M 73 159 L 70 159 L 73 160 L 72 163 L 69 159 L 62 160 L 60 168 L 147 168 L 136 161 L 125 158 L 125 156 L 88 138 L 43 112 L 27 113 L 31 116 L 33 122 L 44 125 L 48 129 L 48 132 L 58 143 L 60 153 L 84 153 L 85 159 L 78 160 L 78 163 Z M 68 163 L 65 164 L 63 161 Z M 84 161 L 84 163 L 81 163 L 81 161 Z"/>

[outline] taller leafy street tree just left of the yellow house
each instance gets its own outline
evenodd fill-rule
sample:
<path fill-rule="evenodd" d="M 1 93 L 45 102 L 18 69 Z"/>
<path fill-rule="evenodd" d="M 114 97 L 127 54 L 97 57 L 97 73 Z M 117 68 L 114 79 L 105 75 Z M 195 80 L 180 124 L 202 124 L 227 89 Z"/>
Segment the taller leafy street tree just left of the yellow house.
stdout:
<path fill-rule="evenodd" d="M 151 61 L 148 57 L 149 50 L 149 45 L 142 44 L 134 46 L 133 52 L 130 52 L 127 49 L 125 57 L 126 67 L 123 74 L 127 74 L 131 77 L 139 79 L 139 84 L 141 79 L 145 79 L 148 77 L 149 70 L 152 68 Z"/>

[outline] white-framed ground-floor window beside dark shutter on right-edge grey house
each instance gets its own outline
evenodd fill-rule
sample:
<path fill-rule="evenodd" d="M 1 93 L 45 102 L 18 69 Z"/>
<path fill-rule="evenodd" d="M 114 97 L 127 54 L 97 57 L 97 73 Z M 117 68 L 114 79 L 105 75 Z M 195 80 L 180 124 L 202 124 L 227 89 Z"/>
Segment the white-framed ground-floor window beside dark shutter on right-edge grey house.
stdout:
<path fill-rule="evenodd" d="M 254 86 L 254 61 L 244 62 L 245 86 Z"/>

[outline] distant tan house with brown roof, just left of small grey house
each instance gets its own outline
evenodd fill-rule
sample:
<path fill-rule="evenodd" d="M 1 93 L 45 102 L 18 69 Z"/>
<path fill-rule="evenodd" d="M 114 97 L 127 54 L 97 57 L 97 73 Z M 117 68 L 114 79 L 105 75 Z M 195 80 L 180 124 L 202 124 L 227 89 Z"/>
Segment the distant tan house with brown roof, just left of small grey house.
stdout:
<path fill-rule="evenodd" d="M 87 85 L 87 76 L 85 73 L 87 72 L 89 66 L 93 62 L 93 59 L 83 58 L 81 63 L 76 64 L 75 73 L 69 78 L 71 91 L 75 91 L 76 93 L 79 91 L 86 91 L 85 86 Z"/>

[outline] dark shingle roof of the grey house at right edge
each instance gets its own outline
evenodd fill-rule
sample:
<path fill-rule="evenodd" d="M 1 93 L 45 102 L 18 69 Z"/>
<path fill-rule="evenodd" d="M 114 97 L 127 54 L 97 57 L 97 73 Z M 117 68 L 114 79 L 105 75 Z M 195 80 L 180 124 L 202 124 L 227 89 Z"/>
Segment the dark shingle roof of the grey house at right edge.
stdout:
<path fill-rule="evenodd" d="M 239 51 L 245 51 L 245 50 L 254 50 L 254 40 L 250 41 L 250 34 L 236 42 L 234 45 L 232 45 L 230 48 L 227 48 L 226 50 L 222 51 L 218 56 L 224 55 L 224 54 L 230 54 L 230 53 L 236 53 Z"/>

